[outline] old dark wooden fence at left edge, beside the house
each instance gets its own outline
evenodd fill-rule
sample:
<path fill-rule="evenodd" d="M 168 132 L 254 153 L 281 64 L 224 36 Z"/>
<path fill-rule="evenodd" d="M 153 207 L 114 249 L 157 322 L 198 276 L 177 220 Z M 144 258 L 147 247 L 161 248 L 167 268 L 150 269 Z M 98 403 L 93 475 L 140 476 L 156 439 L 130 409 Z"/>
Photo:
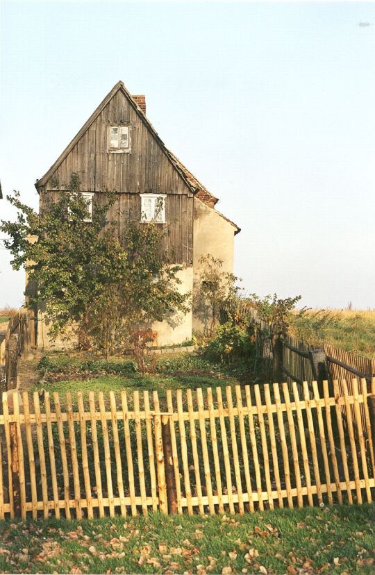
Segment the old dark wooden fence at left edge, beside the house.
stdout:
<path fill-rule="evenodd" d="M 0 373 L 3 373 L 0 390 L 17 387 L 18 359 L 28 358 L 35 347 L 35 313 L 33 310 L 20 310 L 10 317 L 5 338 L 0 343 Z"/>

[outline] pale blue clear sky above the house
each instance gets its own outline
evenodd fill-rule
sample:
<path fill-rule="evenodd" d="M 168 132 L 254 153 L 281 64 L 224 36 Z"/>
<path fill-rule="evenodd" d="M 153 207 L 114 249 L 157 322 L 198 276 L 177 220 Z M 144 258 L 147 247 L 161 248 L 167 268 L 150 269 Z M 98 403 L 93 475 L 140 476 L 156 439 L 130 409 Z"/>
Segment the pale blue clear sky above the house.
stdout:
<path fill-rule="evenodd" d="M 117 81 L 242 231 L 260 296 L 375 308 L 375 3 L 3 0 L 0 179 L 34 188 Z M 0 200 L 0 219 L 15 214 Z M 0 233 L 0 238 L 4 238 Z M 0 307 L 24 273 L 0 241 Z"/>

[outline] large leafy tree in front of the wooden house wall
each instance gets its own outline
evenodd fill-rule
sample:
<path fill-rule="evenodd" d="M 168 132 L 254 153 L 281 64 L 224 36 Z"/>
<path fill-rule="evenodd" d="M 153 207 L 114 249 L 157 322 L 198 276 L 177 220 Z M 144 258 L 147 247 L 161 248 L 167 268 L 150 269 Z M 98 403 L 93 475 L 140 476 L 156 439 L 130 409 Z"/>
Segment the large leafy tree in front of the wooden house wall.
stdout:
<path fill-rule="evenodd" d="M 180 268 L 166 265 L 163 231 L 153 222 L 129 221 L 119 237 L 116 224 L 106 219 L 115 194 L 101 194 L 88 223 L 77 174 L 40 214 L 15 192 L 8 201 L 17 219 L 2 221 L 1 231 L 10 236 L 4 243 L 12 267 L 26 267 L 38 286 L 28 305 L 43 308 L 51 336 L 73 328 L 82 346 L 108 356 L 129 347 L 136 331 L 187 311 L 189 294 L 178 292 Z M 30 242 L 31 236 L 38 240 Z"/>

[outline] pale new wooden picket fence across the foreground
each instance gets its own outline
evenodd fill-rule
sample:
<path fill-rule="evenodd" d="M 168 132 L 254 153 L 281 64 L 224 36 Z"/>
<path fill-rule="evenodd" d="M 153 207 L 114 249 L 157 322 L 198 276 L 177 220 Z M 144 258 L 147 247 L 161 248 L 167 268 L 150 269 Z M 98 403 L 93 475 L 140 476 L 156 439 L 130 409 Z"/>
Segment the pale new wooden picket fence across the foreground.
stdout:
<path fill-rule="evenodd" d="M 3 394 L 0 519 L 372 501 L 374 413 L 351 385 Z"/>

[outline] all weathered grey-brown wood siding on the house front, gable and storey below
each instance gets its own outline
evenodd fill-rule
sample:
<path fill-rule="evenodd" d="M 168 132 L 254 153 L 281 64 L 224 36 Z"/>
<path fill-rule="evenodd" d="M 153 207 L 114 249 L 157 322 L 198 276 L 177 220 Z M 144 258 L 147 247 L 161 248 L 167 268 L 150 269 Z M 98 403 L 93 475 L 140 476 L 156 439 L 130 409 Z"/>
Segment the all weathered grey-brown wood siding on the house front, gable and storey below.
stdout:
<path fill-rule="evenodd" d="M 108 127 L 119 124 L 130 126 L 130 153 L 108 153 Z M 65 189 L 73 172 L 80 176 L 81 191 L 95 192 L 94 205 L 101 201 L 102 190 L 118 192 L 108 219 L 118 222 L 119 234 L 129 218 L 140 221 L 140 193 L 167 194 L 163 249 L 174 263 L 192 265 L 192 192 L 121 90 L 40 190 L 40 208 Z"/>

